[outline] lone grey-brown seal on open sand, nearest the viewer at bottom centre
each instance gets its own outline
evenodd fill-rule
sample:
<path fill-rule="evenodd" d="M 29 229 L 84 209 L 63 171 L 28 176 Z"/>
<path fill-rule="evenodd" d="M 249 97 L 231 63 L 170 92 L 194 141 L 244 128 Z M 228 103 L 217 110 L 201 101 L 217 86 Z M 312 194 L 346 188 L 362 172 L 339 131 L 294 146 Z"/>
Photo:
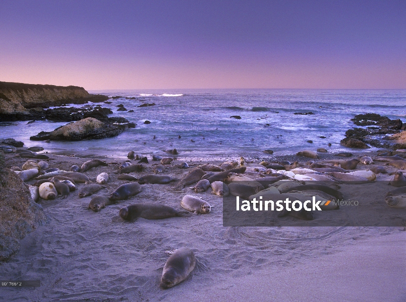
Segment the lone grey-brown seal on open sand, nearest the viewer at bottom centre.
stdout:
<path fill-rule="evenodd" d="M 162 271 L 161 283 L 163 289 L 175 286 L 185 280 L 196 265 L 195 254 L 188 248 L 176 250 L 166 261 Z"/>

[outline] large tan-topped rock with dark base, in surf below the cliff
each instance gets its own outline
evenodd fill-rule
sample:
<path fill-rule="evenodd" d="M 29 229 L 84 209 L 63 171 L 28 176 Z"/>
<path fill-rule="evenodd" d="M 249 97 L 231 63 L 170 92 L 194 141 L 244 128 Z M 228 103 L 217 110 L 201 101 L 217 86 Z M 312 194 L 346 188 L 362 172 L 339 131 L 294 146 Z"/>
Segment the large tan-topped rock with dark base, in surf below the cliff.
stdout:
<path fill-rule="evenodd" d="M 82 140 L 101 139 L 119 135 L 126 128 L 125 125 L 103 123 L 95 118 L 88 117 L 77 122 L 56 128 L 51 132 L 41 131 L 31 140 Z"/>

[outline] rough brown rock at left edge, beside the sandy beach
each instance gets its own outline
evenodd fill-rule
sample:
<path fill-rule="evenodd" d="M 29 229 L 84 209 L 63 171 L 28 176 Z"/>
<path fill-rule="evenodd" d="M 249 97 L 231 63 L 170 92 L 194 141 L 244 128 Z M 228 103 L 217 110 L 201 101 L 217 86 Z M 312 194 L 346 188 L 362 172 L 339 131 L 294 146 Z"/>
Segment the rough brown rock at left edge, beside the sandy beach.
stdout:
<path fill-rule="evenodd" d="M 48 221 L 27 186 L 5 167 L 0 155 L 0 261 L 9 260 L 20 250 L 19 240 Z"/>

